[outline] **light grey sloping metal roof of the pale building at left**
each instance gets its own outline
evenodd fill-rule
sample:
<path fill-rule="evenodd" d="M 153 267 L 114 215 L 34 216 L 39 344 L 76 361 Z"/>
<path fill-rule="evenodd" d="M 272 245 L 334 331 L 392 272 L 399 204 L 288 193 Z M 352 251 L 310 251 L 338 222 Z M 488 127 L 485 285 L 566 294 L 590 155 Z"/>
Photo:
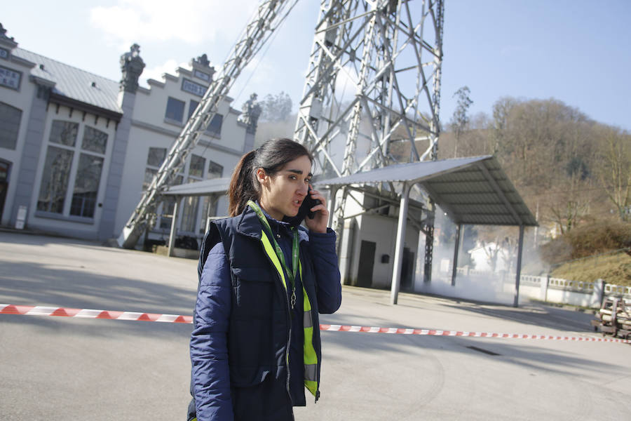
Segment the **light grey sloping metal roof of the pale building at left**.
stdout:
<path fill-rule="evenodd" d="M 118 107 L 118 82 L 77 69 L 51 58 L 22 48 L 15 48 L 12 55 L 36 64 L 32 76 L 55 83 L 53 94 L 122 114 Z"/>

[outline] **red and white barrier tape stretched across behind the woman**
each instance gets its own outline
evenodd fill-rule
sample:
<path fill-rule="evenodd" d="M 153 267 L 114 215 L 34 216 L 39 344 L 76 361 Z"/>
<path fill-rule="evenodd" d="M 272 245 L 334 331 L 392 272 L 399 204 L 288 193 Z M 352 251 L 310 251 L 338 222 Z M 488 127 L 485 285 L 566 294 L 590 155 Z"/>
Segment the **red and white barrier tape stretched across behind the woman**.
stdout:
<path fill-rule="evenodd" d="M 20 314 L 23 316 L 62 316 L 79 317 L 83 319 L 111 319 L 131 321 L 160 321 L 163 323 L 193 323 L 193 316 L 179 316 L 177 314 L 155 314 L 137 312 L 114 312 L 109 310 L 69 309 L 64 307 L 43 307 L 32 305 L 0 304 L 0 314 Z M 544 340 L 578 340 L 586 342 L 623 342 L 631 340 L 613 338 L 593 338 L 590 336 L 554 336 L 554 335 L 524 335 L 520 333 L 490 333 L 464 332 L 459 330 L 411 329 L 411 328 L 377 328 L 368 326 L 344 326 L 320 324 L 320 330 L 327 332 L 365 332 L 365 333 L 396 333 L 399 335 L 428 335 L 428 336 L 464 336 L 470 338 L 510 338 L 510 339 L 544 339 Z"/>

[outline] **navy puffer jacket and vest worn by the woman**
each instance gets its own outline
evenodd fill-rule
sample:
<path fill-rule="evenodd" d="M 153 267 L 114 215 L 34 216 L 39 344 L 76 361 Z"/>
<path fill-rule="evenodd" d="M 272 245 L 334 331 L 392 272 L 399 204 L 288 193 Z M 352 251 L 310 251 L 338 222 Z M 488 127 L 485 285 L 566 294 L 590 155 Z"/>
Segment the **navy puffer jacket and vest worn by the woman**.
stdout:
<path fill-rule="evenodd" d="M 268 219 L 290 266 L 288 227 Z M 307 235 L 299 229 L 301 281 L 314 309 L 319 379 L 318 312 L 335 312 L 341 303 L 335 234 Z M 213 222 L 201 247 L 191 335 L 191 383 L 199 421 L 292 420 L 292 406 L 305 404 L 301 305 L 290 310 L 261 235 L 262 224 L 248 207 L 241 215 Z M 300 285 L 297 293 L 301 303 Z"/>

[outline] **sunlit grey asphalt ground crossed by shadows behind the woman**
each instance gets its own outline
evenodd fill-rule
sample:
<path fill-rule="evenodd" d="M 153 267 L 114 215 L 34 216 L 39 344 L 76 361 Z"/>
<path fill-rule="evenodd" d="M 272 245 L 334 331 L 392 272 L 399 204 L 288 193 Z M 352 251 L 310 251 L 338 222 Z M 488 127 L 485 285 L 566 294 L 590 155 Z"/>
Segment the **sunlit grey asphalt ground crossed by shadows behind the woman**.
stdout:
<path fill-rule="evenodd" d="M 0 232 L 0 302 L 191 314 L 196 262 Z M 321 323 L 599 338 L 592 314 L 343 288 Z M 0 420 L 184 420 L 191 325 L 0 315 Z M 625 420 L 631 345 L 322 332 L 311 420 Z"/>

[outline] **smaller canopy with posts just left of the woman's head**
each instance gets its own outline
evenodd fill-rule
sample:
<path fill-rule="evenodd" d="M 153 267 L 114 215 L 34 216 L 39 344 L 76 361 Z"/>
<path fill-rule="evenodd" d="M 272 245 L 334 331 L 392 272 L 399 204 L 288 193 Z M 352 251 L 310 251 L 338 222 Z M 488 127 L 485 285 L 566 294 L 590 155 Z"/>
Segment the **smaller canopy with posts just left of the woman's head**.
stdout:
<path fill-rule="evenodd" d="M 209 196 L 210 206 L 208 206 L 208 215 L 206 215 L 206 221 L 210 219 L 214 212 L 215 203 L 220 196 L 223 196 L 228 192 L 228 186 L 230 185 L 230 178 L 210 178 L 208 180 L 189 182 L 188 184 L 169 186 L 165 191 L 161 192 L 162 196 L 172 196 L 175 199 L 175 206 L 173 207 L 173 216 L 171 218 L 171 232 L 169 234 L 169 246 L 168 255 L 171 256 L 173 248 L 175 246 L 175 234 L 177 226 L 177 213 L 180 204 L 184 197 L 189 196 Z M 208 225 L 206 226 L 208 231 Z"/>

